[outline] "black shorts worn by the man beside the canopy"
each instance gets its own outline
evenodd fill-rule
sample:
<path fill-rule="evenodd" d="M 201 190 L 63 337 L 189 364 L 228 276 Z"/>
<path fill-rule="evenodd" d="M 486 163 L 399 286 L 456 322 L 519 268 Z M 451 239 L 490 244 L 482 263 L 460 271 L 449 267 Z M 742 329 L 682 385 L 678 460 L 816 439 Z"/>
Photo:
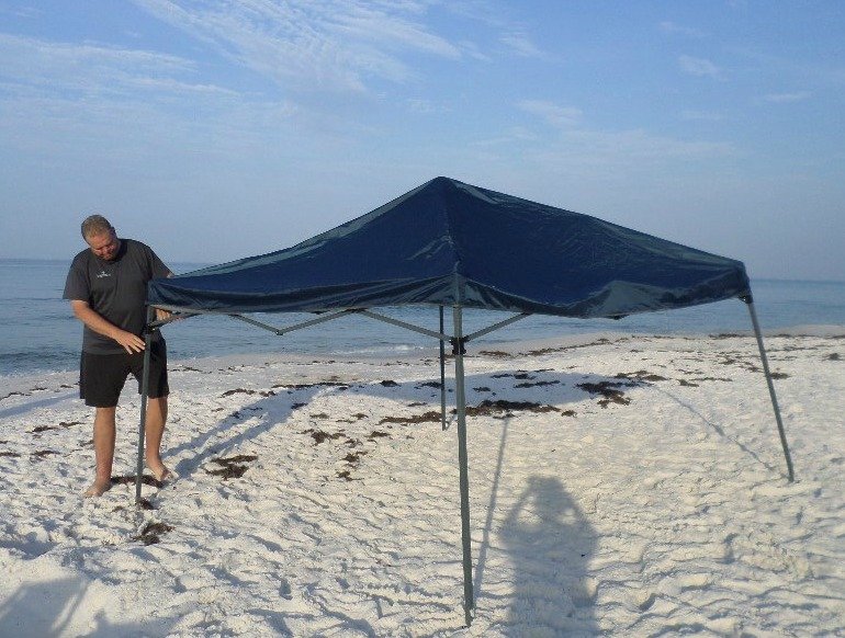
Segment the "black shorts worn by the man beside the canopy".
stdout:
<path fill-rule="evenodd" d="M 121 397 L 123 384 L 132 373 L 138 380 L 138 394 L 144 373 L 144 353 L 93 354 L 82 353 L 79 366 L 79 398 L 86 406 L 114 408 Z M 149 356 L 149 398 L 167 397 L 167 345 L 154 341 Z"/>

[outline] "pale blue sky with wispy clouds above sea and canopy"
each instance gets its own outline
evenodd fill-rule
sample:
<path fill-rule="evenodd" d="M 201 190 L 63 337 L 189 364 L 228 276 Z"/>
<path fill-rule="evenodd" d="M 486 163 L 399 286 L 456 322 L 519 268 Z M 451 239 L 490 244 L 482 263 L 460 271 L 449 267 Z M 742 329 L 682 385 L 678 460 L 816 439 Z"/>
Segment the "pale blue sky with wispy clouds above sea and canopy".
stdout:
<path fill-rule="evenodd" d="M 838 0 L 0 0 L 0 259 L 100 213 L 230 261 L 446 175 L 845 281 L 843 34 Z"/>

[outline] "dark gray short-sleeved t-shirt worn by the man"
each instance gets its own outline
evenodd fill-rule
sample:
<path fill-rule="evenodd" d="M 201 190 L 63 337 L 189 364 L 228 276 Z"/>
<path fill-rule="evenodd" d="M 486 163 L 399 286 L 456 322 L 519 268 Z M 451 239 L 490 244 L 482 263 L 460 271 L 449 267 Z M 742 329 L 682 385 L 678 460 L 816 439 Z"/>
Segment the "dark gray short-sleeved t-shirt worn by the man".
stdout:
<path fill-rule="evenodd" d="M 117 257 L 112 261 L 98 258 L 90 249 L 76 255 L 63 297 L 88 301 L 97 314 L 140 337 L 147 320 L 147 282 L 169 274 L 170 270 L 151 248 L 134 239 L 121 239 Z M 158 332 L 156 339 L 160 339 Z M 88 326 L 82 333 L 82 351 L 95 354 L 126 352 L 120 343 L 98 334 Z"/>

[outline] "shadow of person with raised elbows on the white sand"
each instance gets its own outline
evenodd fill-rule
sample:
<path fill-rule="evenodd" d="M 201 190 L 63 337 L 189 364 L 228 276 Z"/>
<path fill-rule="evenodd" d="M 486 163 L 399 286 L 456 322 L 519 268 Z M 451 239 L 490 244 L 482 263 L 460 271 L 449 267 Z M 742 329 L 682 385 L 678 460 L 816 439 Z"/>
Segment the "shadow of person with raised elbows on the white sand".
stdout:
<path fill-rule="evenodd" d="M 596 532 L 555 477 L 534 475 L 498 534 L 514 569 L 508 635 L 594 636 Z"/>

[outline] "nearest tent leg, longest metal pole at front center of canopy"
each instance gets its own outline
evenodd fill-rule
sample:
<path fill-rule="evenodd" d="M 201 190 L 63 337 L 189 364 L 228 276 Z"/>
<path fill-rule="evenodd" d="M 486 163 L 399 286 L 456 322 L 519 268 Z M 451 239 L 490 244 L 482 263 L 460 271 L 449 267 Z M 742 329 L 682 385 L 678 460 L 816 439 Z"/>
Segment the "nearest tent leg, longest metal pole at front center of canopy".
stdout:
<path fill-rule="evenodd" d="M 470 475 L 466 458 L 466 395 L 463 372 L 463 324 L 461 307 L 452 308 L 454 319 L 454 385 L 458 403 L 458 465 L 461 483 L 461 540 L 463 544 L 463 608 L 466 626 L 472 624 L 475 607 L 472 591 L 472 546 L 470 542 Z"/>

